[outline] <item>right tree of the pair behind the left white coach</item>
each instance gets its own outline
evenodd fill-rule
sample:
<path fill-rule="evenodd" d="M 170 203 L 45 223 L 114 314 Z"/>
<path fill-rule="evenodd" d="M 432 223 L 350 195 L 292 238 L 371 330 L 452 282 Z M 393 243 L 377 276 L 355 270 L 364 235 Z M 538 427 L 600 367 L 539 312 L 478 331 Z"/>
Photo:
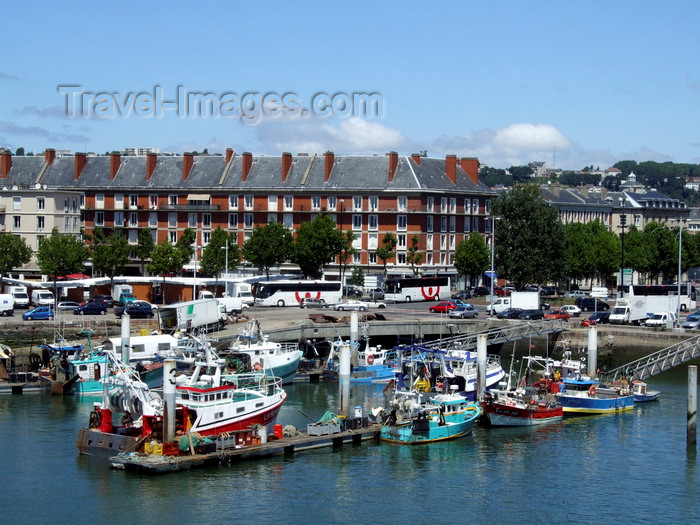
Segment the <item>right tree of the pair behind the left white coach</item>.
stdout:
<path fill-rule="evenodd" d="M 302 222 L 294 240 L 293 261 L 304 277 L 319 278 L 323 267 L 332 262 L 346 246 L 345 236 L 328 215 L 317 215 L 311 222 Z"/>

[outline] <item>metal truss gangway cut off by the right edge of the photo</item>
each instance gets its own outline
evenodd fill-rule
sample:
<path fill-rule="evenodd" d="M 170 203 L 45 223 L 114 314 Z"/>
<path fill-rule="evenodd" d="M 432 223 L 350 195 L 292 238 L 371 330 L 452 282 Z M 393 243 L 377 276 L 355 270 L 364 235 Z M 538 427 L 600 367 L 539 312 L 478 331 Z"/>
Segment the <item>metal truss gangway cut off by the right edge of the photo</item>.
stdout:
<path fill-rule="evenodd" d="M 608 381 L 622 377 L 644 381 L 696 357 L 700 357 L 700 335 L 657 350 L 646 357 L 618 366 L 601 375 Z"/>

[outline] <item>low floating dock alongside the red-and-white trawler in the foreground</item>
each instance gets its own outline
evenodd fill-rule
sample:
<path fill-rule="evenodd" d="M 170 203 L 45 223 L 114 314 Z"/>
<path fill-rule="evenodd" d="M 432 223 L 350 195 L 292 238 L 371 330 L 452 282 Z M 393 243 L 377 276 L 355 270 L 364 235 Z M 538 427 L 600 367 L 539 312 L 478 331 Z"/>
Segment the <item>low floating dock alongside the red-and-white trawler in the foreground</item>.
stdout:
<path fill-rule="evenodd" d="M 232 445 L 217 440 L 216 451 L 202 454 L 161 455 L 131 452 L 109 458 L 112 468 L 144 474 L 167 474 L 208 465 L 226 465 L 242 461 L 278 455 L 294 455 L 297 452 L 316 448 L 342 447 L 344 444 L 359 446 L 362 441 L 376 440 L 381 425 L 368 425 L 355 430 L 344 430 L 334 434 L 309 435 L 300 433 L 293 437 L 270 439 L 267 443 L 254 445 Z"/>

